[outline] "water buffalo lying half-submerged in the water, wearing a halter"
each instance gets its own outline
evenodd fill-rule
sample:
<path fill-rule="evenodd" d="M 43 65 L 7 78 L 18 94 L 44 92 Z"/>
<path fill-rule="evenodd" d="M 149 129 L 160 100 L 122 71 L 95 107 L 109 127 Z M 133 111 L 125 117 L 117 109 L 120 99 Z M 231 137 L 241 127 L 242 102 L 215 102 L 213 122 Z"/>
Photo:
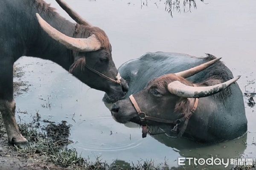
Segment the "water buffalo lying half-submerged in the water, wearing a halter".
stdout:
<path fill-rule="evenodd" d="M 111 113 L 120 123 L 163 126 L 164 133 L 198 142 L 235 139 L 247 131 L 241 90 L 231 71 L 214 56 L 147 53 L 119 68 L 128 82 L 126 99 Z M 132 95 L 133 94 L 133 95 Z M 199 99 L 198 99 L 199 98 Z M 104 97 L 105 102 L 114 99 Z M 149 130 L 149 131 L 148 131 Z"/>

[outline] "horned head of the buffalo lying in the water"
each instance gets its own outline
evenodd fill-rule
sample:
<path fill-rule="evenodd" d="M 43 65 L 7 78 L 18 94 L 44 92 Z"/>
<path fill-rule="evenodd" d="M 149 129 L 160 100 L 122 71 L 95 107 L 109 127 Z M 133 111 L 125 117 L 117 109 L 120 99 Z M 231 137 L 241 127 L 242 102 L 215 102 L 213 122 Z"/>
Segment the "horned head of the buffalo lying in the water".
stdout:
<path fill-rule="evenodd" d="M 219 59 L 213 59 L 195 68 L 175 74 L 166 74 L 151 80 L 145 89 L 133 94 L 140 110 L 145 112 L 147 116 L 159 119 L 177 120 L 186 116 L 185 114 L 193 108 L 195 98 L 216 94 L 239 79 L 240 76 L 227 82 L 215 83 L 212 86 L 205 86 L 204 83 L 194 85 L 185 79 L 204 70 Z M 114 103 L 111 107 L 111 113 L 117 122 L 141 123 L 140 116 L 130 99 Z M 147 122 L 148 125 L 155 125 L 156 123 L 154 121 Z"/>

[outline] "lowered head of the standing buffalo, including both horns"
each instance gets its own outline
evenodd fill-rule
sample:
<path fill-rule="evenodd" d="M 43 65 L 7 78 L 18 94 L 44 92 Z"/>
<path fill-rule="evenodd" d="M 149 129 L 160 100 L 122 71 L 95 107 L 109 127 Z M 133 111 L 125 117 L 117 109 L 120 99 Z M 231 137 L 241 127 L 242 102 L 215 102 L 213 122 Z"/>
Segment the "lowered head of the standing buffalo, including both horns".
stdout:
<path fill-rule="evenodd" d="M 73 64 L 69 72 L 91 88 L 105 91 L 115 100 L 121 99 L 128 91 L 128 85 L 117 72 L 108 36 L 102 29 L 91 26 L 67 3 L 56 1 L 77 23 L 72 37 L 50 26 L 39 14 L 36 16 L 41 28 L 70 50 Z"/>

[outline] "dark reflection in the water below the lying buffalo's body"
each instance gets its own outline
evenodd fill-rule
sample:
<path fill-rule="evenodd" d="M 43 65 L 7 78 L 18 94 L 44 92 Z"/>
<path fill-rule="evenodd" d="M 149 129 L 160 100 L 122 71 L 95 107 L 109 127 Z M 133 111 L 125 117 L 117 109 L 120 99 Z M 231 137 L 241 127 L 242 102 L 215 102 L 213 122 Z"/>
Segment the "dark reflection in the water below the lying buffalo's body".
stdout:
<path fill-rule="evenodd" d="M 202 144 L 185 138 L 172 138 L 166 134 L 151 137 L 168 147 L 172 147 L 173 150 L 184 157 L 208 158 L 209 156 L 218 156 L 221 158 L 238 158 L 244 153 L 247 144 L 247 134 L 238 139 L 217 144 Z"/>

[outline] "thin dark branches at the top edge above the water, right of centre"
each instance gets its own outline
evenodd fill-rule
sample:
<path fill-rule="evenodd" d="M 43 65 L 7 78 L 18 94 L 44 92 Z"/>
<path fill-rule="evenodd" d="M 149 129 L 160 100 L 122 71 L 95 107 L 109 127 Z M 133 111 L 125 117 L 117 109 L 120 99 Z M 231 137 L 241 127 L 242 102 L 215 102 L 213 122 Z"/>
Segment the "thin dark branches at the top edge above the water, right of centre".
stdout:
<path fill-rule="evenodd" d="M 161 0 L 157 0 L 161 1 Z M 180 1 L 181 0 L 165 0 L 165 10 L 171 14 L 174 10 L 180 12 Z M 201 2 L 204 2 L 204 0 L 200 0 Z M 154 3 L 157 5 L 157 2 Z M 141 0 L 141 7 L 143 6 L 148 6 L 148 0 Z M 188 10 L 186 11 L 186 7 L 189 6 Z M 194 7 L 196 8 L 196 2 L 195 0 L 183 0 L 183 11 L 188 12 L 191 11 L 191 8 Z"/>

